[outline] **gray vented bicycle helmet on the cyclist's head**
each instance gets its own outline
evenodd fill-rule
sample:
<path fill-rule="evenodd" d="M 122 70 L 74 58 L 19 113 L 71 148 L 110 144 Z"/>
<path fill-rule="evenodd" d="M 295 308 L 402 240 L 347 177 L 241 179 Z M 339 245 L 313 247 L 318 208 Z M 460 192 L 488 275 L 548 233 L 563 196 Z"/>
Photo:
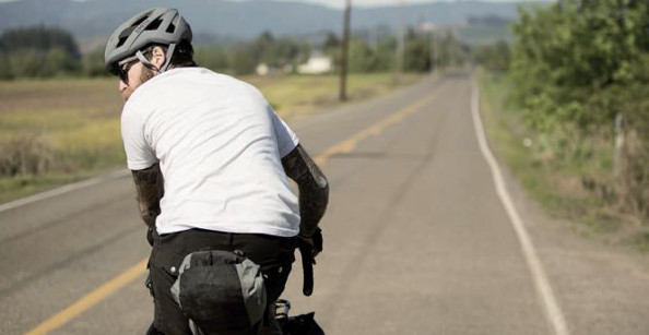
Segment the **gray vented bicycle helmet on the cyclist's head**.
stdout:
<path fill-rule="evenodd" d="M 166 69 L 175 46 L 181 40 L 191 43 L 191 27 L 177 9 L 153 8 L 145 10 L 121 24 L 108 39 L 104 60 L 106 70 L 117 72 L 120 60 L 132 57 L 150 44 L 169 45 Z"/>

